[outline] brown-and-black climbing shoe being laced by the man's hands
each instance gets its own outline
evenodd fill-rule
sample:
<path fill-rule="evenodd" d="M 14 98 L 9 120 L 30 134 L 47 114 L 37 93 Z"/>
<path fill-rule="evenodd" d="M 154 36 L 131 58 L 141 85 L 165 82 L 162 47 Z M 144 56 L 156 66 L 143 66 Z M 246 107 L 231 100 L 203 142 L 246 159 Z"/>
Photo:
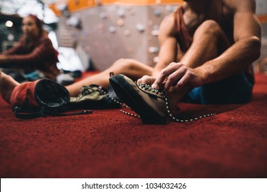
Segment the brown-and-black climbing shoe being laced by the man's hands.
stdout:
<path fill-rule="evenodd" d="M 125 75 L 110 77 L 116 95 L 134 110 L 142 123 L 166 124 L 168 112 L 164 95 L 147 84 L 136 84 Z"/>

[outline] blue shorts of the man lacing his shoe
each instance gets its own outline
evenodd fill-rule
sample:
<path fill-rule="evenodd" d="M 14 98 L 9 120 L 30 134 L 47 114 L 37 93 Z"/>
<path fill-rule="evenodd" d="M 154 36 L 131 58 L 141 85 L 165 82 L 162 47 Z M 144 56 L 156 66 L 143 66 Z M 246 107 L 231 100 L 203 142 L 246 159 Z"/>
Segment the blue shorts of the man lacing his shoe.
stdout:
<path fill-rule="evenodd" d="M 181 101 L 192 104 L 246 104 L 251 101 L 253 84 L 242 72 L 193 88 Z"/>

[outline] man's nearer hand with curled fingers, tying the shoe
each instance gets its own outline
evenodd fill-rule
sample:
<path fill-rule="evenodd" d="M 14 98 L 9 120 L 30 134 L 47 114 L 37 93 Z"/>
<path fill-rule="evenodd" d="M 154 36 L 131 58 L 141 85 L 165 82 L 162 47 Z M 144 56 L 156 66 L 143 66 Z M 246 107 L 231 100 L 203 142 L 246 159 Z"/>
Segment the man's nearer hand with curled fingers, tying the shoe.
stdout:
<path fill-rule="evenodd" d="M 165 82 L 164 88 L 166 91 L 172 87 L 175 92 L 179 91 L 186 85 L 192 87 L 203 85 L 203 80 L 199 71 L 191 69 L 181 62 L 172 62 L 168 65 L 168 67 L 162 69 L 160 75 L 158 75 L 153 82 L 152 88 L 159 89 L 163 82 Z"/>

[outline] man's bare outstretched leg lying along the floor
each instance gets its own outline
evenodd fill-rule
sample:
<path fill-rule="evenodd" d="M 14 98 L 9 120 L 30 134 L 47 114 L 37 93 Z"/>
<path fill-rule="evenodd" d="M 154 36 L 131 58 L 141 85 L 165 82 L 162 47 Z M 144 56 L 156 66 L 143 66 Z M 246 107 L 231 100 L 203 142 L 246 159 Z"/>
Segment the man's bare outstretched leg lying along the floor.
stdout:
<path fill-rule="evenodd" d="M 138 80 L 138 78 L 142 77 L 143 75 L 151 75 L 152 71 L 152 67 L 142 64 L 136 60 L 120 59 L 114 62 L 114 64 L 105 71 L 66 86 L 66 89 L 72 97 L 75 97 L 79 95 L 81 86 L 97 84 L 99 86 L 103 86 L 103 88 L 108 88 L 108 85 L 110 84 L 110 72 L 113 72 L 114 74 L 124 74 L 133 80 Z"/>

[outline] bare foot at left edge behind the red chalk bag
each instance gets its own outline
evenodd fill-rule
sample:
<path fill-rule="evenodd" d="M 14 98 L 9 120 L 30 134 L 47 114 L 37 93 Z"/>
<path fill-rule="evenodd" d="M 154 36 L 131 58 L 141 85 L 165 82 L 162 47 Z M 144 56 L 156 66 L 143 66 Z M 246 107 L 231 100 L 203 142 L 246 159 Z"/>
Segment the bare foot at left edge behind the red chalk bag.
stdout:
<path fill-rule="evenodd" d="M 10 75 L 6 75 L 0 71 L 0 93 L 3 99 L 10 104 L 10 96 L 15 86 L 18 86 L 19 83 L 16 82 Z"/>

